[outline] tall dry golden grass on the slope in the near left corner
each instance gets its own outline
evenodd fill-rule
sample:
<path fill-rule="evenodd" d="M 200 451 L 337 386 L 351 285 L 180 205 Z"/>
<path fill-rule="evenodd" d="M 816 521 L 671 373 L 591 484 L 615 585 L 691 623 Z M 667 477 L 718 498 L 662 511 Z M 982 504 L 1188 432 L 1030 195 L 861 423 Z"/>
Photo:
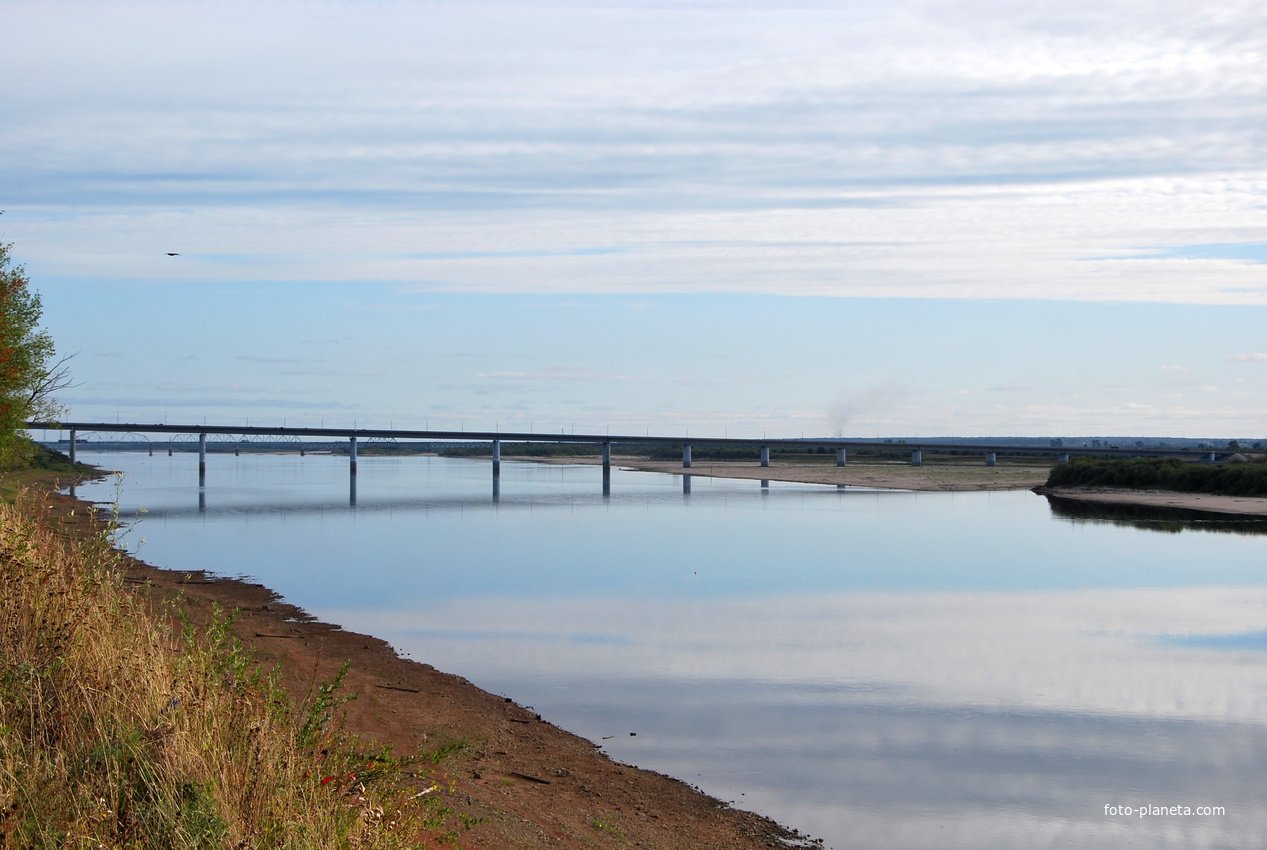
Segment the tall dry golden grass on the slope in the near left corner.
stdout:
<path fill-rule="evenodd" d="M 445 789 L 342 730 L 337 682 L 291 706 L 227 617 L 174 628 L 120 557 L 104 523 L 0 504 L 0 847 L 456 845 Z"/>

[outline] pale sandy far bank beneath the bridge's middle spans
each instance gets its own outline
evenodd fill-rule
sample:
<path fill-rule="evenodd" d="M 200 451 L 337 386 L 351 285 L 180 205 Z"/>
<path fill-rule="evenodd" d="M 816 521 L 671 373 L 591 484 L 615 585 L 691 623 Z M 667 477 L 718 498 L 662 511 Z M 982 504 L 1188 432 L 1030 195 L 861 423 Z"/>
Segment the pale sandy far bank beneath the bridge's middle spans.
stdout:
<path fill-rule="evenodd" d="M 602 464 L 598 457 L 523 457 L 541 464 Z M 704 478 L 739 478 L 748 480 L 788 481 L 793 484 L 835 484 L 891 490 L 965 492 L 965 490 L 1030 490 L 1047 481 L 1050 466 L 1011 465 L 986 466 L 983 462 L 912 466 L 907 462 L 832 462 L 775 461 L 761 466 L 758 461 L 694 461 L 683 469 L 682 461 L 647 460 L 645 457 L 613 457 L 622 469 L 672 475 Z"/>

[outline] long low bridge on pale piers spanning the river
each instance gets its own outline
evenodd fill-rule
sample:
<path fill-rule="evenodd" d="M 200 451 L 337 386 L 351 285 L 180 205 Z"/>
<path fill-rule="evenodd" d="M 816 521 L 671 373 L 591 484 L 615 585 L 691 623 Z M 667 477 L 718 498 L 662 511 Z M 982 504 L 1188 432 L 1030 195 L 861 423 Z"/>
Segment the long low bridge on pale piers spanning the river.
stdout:
<path fill-rule="evenodd" d="M 836 465 L 844 466 L 849 451 L 882 450 L 882 451 L 910 451 L 911 464 L 919 466 L 924 462 L 925 452 L 929 454 L 978 454 L 987 466 L 993 466 L 998 461 L 998 455 L 1047 455 L 1055 462 L 1067 462 L 1071 452 L 1067 446 L 1028 446 L 1015 443 L 948 443 L 936 441 L 903 441 L 892 440 L 846 440 L 846 438 L 767 438 L 767 437 L 691 437 L 685 436 L 650 436 L 650 435 L 597 435 L 597 433 L 541 433 L 521 431 L 414 431 L 404 428 L 291 428 L 286 426 L 212 426 L 212 424 L 157 424 L 157 423 L 120 423 L 120 422 L 28 422 L 27 428 L 32 431 L 68 431 L 70 456 L 75 460 L 76 442 L 81 433 L 134 433 L 134 435 L 196 435 L 198 437 L 198 478 L 199 484 L 207 476 L 207 437 L 209 435 L 223 437 L 237 437 L 246 440 L 250 437 L 279 437 L 295 441 L 300 451 L 305 440 L 336 438 L 347 440 L 348 443 L 348 471 L 356 475 L 356 450 L 357 441 L 417 441 L 417 442 L 466 442 L 490 443 L 493 455 L 493 478 L 500 475 L 502 443 L 590 443 L 601 447 L 603 456 L 604 485 L 611 474 L 612 446 L 632 445 L 640 446 L 682 446 L 682 466 L 691 469 L 692 446 L 712 446 L 731 448 L 750 448 L 760 457 L 761 466 L 770 465 L 770 448 L 798 448 L 798 450 L 829 450 L 836 454 Z M 1100 455 L 1117 457 L 1135 457 L 1142 455 L 1167 455 L 1176 457 L 1192 457 L 1215 460 L 1215 452 L 1209 450 L 1191 448 L 1142 448 L 1142 447 L 1077 447 L 1079 455 Z"/>

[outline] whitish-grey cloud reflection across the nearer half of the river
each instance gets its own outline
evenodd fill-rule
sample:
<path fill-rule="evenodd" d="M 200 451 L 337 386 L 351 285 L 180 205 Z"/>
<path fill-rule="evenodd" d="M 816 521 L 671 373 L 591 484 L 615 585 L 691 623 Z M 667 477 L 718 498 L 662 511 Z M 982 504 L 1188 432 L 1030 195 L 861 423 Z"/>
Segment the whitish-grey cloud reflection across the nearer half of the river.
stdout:
<path fill-rule="evenodd" d="M 1267 830 L 1267 656 L 1167 644 L 1267 630 L 1264 603 L 1209 588 L 322 614 L 460 660 L 566 728 L 611 736 L 617 759 L 849 836 L 836 846 L 1191 847 L 1254 846 Z M 1234 816 L 1104 815 L 1143 802 Z"/>

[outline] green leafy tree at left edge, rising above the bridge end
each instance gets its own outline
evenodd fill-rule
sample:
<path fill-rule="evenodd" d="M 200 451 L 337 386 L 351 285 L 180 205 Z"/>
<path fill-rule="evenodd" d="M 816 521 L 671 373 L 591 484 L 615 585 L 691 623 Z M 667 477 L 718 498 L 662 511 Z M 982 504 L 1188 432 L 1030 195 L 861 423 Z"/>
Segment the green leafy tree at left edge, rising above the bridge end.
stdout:
<path fill-rule="evenodd" d="M 32 419 L 56 419 L 53 393 L 70 386 L 70 357 L 54 360 L 53 338 L 39 327 L 42 304 L 27 270 L 10 265 L 11 244 L 0 243 L 0 465 L 29 454 L 22 431 Z"/>

